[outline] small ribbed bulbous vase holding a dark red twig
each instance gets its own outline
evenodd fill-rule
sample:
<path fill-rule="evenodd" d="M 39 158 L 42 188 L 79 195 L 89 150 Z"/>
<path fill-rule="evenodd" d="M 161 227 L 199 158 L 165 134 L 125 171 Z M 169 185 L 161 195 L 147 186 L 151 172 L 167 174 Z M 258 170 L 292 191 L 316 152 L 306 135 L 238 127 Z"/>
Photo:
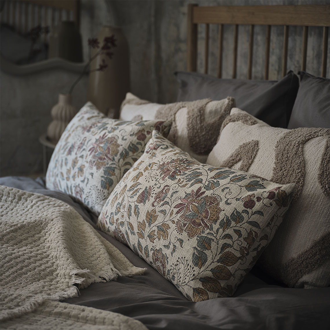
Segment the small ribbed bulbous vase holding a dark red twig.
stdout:
<path fill-rule="evenodd" d="M 71 104 L 71 95 L 59 94 L 58 103 L 52 107 L 50 112 L 53 120 L 47 128 L 47 138 L 49 141 L 55 144 L 58 142 L 65 127 L 76 113 L 76 108 Z"/>

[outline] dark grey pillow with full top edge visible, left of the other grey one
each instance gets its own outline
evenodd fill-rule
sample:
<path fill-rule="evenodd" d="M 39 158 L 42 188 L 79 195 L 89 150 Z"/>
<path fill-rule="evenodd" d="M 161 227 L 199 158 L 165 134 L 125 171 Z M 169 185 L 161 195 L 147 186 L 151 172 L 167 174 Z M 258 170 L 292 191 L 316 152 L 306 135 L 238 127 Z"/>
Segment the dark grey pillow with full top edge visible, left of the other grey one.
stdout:
<path fill-rule="evenodd" d="M 292 71 L 280 81 L 219 79 L 183 71 L 175 75 L 180 82 L 177 101 L 222 100 L 232 96 L 236 107 L 282 128 L 287 127 L 299 87 L 299 79 Z"/>

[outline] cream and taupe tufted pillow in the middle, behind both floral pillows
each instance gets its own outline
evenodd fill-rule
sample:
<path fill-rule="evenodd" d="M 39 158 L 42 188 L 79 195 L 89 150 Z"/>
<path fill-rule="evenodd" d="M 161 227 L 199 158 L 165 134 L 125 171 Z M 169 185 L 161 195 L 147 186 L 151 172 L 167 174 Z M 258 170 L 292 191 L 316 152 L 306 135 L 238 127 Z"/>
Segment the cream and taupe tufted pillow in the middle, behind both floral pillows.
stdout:
<path fill-rule="evenodd" d="M 215 146 L 223 119 L 234 106 L 235 100 L 232 97 L 220 101 L 204 99 L 163 105 L 127 93 L 121 106 L 120 118 L 172 121 L 168 139 L 190 156 L 205 163 Z"/>

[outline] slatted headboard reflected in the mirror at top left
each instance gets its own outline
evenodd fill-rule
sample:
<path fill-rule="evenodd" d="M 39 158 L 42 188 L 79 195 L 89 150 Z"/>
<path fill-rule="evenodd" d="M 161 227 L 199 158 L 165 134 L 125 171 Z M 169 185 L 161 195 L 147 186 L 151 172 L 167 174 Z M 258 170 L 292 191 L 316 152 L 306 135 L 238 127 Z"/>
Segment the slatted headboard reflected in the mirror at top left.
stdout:
<path fill-rule="evenodd" d="M 50 28 L 62 20 L 73 20 L 79 29 L 79 0 L 6 0 L 1 22 L 26 33 L 41 24 Z"/>

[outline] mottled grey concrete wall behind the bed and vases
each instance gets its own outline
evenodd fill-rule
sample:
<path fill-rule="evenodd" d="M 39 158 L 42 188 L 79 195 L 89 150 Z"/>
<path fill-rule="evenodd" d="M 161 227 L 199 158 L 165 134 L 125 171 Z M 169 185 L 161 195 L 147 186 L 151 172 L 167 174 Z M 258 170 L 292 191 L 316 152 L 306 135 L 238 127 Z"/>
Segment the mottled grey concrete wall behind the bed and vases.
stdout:
<path fill-rule="evenodd" d="M 193 2 L 203 6 L 213 5 L 274 5 L 274 4 L 329 4 L 325 0 L 82 0 L 81 33 L 86 58 L 86 40 L 95 37 L 102 25 L 116 25 L 123 29 L 130 48 L 131 91 L 141 98 L 154 102 L 174 102 L 178 83 L 173 75 L 186 69 L 186 18 L 187 5 Z M 230 78 L 232 71 L 232 27 L 225 26 L 223 78 Z M 198 30 L 199 49 L 203 50 L 204 26 Z M 275 43 L 283 28 L 272 29 L 270 79 L 281 67 L 282 41 Z M 288 69 L 299 71 L 302 28 L 289 31 Z M 322 40 L 322 28 L 309 29 L 315 41 L 308 44 L 307 71 L 315 75 L 321 63 L 321 49 L 316 43 Z M 209 73 L 216 74 L 217 28 L 210 27 Z M 256 26 L 254 34 L 253 79 L 263 78 L 265 29 Z M 330 40 L 329 40 L 330 54 Z M 237 77 L 246 78 L 248 54 L 248 27 L 239 29 Z M 291 55 L 293 54 L 293 55 Z M 329 59 L 330 62 L 330 59 Z M 198 69 L 203 71 L 203 54 L 198 57 Z M 77 75 L 55 71 L 28 77 L 0 75 L 0 175 L 31 174 L 42 171 L 42 147 L 38 137 L 50 122 L 50 109 L 62 92 Z M 327 76 L 330 76 L 330 65 Z M 87 77 L 80 82 L 73 94 L 73 104 L 79 109 L 86 101 Z"/>

